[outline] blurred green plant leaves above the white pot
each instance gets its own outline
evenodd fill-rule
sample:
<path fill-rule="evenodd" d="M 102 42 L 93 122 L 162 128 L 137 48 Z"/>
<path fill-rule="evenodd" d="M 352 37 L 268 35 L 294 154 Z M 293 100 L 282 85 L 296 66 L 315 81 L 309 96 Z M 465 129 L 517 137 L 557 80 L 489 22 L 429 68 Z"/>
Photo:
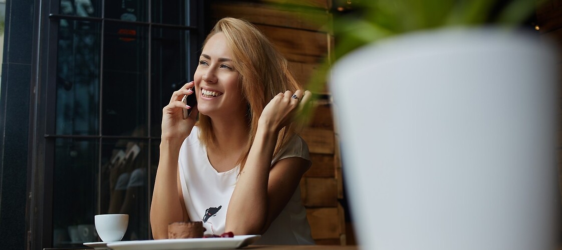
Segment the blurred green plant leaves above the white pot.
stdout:
<path fill-rule="evenodd" d="M 532 17 L 536 0 L 337 0 L 350 7 L 333 13 L 334 53 L 324 58 L 307 88 L 324 89 L 331 65 L 357 48 L 414 31 L 501 26 L 513 29 Z"/>

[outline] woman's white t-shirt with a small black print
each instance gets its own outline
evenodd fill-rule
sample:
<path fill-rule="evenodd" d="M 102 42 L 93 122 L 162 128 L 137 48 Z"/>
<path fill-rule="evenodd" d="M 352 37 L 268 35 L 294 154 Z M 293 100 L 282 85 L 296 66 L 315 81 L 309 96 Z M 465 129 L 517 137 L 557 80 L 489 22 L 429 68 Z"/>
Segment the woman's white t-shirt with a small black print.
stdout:
<path fill-rule="evenodd" d="M 239 167 L 217 172 L 207 157 L 207 148 L 198 138 L 199 129 L 193 127 L 180 148 L 179 173 L 185 207 L 191 221 L 203 221 L 205 234 L 224 233 L 226 210 Z M 273 163 L 288 157 L 300 157 L 310 161 L 306 142 L 295 135 L 273 158 Z M 301 202 L 301 190 L 297 187 L 293 196 L 255 244 L 314 244 L 306 210 Z"/>

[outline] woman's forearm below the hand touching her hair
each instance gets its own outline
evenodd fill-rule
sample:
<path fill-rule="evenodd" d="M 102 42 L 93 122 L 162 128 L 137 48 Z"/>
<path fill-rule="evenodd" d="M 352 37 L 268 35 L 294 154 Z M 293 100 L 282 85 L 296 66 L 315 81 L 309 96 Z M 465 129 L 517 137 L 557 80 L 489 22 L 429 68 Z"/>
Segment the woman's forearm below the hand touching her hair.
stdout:
<path fill-rule="evenodd" d="M 273 130 L 259 127 L 226 211 L 225 231 L 261 234 L 268 219 L 268 180 L 277 143 Z"/>

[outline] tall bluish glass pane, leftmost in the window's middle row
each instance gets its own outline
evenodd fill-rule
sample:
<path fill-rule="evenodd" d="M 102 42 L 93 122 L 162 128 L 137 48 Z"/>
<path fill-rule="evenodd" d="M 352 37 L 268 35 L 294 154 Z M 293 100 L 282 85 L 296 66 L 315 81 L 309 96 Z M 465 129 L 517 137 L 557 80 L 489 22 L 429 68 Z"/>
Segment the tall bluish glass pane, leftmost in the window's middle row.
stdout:
<path fill-rule="evenodd" d="M 59 22 L 56 134 L 98 134 L 100 27 Z"/>

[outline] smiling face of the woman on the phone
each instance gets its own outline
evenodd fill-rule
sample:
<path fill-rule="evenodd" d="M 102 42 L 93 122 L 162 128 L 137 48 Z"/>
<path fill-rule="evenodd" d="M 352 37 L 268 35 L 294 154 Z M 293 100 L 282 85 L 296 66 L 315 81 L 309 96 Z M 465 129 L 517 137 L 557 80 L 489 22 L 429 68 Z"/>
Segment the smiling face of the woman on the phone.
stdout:
<path fill-rule="evenodd" d="M 207 40 L 193 76 L 197 109 L 203 115 L 211 118 L 245 115 L 247 104 L 242 97 L 239 72 L 234 69 L 232 60 L 232 51 L 223 33 Z"/>

